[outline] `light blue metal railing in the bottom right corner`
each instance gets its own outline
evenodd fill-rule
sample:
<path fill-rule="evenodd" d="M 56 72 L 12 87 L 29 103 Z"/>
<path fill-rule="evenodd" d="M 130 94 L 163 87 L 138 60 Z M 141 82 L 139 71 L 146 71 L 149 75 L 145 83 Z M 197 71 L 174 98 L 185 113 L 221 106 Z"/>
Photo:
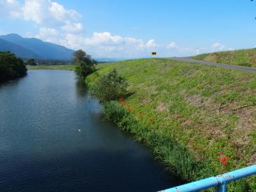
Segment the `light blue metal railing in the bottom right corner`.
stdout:
<path fill-rule="evenodd" d="M 166 189 L 163 191 L 164 192 L 192 192 L 192 191 L 200 191 L 200 190 L 204 190 L 204 189 L 208 189 L 216 186 L 218 189 L 218 192 L 225 192 L 227 191 L 228 182 L 241 179 L 243 177 L 248 177 L 254 174 L 256 174 L 256 164 L 252 166 L 248 166 L 246 168 L 235 170 L 233 172 L 228 172 L 223 175 L 218 175 L 216 177 L 209 177 L 207 179 L 198 180 L 195 182 L 184 184 L 182 186 L 178 186 L 175 188 Z"/>

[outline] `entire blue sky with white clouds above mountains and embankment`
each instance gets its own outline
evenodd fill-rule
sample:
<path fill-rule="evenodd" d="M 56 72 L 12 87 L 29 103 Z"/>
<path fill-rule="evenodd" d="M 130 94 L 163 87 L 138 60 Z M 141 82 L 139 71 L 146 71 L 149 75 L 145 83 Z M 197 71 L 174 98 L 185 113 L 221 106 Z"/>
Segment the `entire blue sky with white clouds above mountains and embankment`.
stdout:
<path fill-rule="evenodd" d="M 93 58 L 159 57 L 256 46 L 250 0 L 0 0 L 0 35 L 83 49 Z"/>

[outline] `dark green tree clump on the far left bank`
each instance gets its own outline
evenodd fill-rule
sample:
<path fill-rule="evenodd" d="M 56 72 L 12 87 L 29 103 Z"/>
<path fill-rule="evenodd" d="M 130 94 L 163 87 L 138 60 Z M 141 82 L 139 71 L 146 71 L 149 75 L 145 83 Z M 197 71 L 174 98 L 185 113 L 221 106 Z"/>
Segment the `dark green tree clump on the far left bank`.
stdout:
<path fill-rule="evenodd" d="M 22 59 L 17 58 L 10 51 L 0 52 L 0 83 L 26 74 L 27 68 Z"/>

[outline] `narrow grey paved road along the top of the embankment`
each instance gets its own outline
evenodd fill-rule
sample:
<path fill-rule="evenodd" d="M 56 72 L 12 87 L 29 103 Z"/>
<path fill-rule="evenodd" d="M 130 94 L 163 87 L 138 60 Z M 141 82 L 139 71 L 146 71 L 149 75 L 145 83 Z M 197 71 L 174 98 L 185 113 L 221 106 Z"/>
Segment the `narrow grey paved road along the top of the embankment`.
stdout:
<path fill-rule="evenodd" d="M 201 63 L 204 65 L 211 65 L 211 66 L 216 66 L 216 67 L 232 68 L 232 69 L 236 69 L 236 70 L 240 70 L 240 71 L 244 71 L 244 72 L 252 72 L 252 73 L 256 74 L 256 68 L 254 68 L 254 67 L 243 67 L 243 66 L 238 66 L 238 65 L 228 65 L 228 64 L 224 64 L 224 63 L 212 63 L 212 62 L 208 62 L 208 61 L 193 60 L 191 58 L 172 58 L 172 60 L 186 61 L 189 63 Z"/>

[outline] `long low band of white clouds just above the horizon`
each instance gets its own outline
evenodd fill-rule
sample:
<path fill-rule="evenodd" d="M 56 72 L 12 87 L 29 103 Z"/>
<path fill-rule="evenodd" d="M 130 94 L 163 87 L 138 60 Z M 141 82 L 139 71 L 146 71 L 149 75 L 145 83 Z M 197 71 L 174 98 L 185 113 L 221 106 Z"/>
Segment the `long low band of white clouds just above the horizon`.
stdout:
<path fill-rule="evenodd" d="M 156 49 L 159 45 L 154 39 L 143 42 L 141 39 L 112 35 L 109 32 L 93 33 L 86 37 L 80 33 L 60 33 L 52 28 L 40 28 L 38 38 L 58 43 L 71 49 L 84 49 L 93 56 L 108 57 L 136 57 L 149 55 L 148 52 Z"/>

